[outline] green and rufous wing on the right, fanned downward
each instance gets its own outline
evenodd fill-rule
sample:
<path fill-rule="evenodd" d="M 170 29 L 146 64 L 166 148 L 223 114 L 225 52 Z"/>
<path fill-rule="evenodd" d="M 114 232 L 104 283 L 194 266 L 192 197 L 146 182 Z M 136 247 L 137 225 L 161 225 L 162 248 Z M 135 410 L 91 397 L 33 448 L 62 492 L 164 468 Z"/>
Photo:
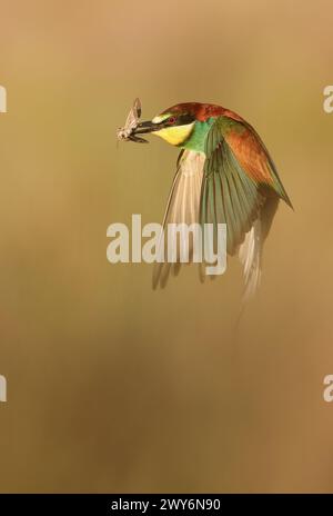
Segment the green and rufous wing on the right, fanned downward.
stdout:
<path fill-rule="evenodd" d="M 245 121 L 218 117 L 205 141 L 201 224 L 226 224 L 226 249 L 243 242 L 270 196 L 291 206 L 275 166 L 254 129 Z"/>

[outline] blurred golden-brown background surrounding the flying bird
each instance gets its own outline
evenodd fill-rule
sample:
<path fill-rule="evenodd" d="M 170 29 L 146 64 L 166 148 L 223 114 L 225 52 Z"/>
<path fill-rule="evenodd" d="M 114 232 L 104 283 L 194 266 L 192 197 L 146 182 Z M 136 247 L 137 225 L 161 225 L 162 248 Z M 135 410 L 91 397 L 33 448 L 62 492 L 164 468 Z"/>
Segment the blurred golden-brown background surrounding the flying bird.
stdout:
<path fill-rule="evenodd" d="M 332 492 L 333 6 L 0 2 L 1 492 Z M 236 338 L 241 267 L 161 291 L 107 261 L 107 227 L 161 221 L 176 150 L 117 147 L 143 118 L 221 103 L 294 204 Z"/>

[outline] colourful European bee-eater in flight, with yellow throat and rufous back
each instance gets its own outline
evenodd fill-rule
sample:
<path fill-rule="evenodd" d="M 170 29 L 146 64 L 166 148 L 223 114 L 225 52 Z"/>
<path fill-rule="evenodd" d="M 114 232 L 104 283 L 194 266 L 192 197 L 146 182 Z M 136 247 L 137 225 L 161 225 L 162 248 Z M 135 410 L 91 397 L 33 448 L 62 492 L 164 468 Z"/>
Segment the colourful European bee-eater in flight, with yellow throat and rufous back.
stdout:
<path fill-rule="evenodd" d="M 292 204 L 258 132 L 243 118 L 211 103 L 185 102 L 141 122 L 133 135 L 153 133 L 181 149 L 163 226 L 226 224 L 226 250 L 244 268 L 244 297 L 260 282 L 263 242 L 280 199 Z M 169 275 L 158 268 L 155 284 Z"/>

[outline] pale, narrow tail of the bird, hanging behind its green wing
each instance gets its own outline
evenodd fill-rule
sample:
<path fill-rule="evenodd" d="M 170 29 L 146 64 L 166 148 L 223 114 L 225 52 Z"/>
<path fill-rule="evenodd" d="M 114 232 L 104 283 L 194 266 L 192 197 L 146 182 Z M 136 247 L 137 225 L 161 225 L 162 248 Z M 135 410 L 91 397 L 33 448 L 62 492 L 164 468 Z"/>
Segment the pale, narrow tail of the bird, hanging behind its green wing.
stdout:
<path fill-rule="evenodd" d="M 279 197 L 269 197 L 265 200 L 258 219 L 240 246 L 239 258 L 243 265 L 244 274 L 244 304 L 254 296 L 260 286 L 263 244 L 270 231 L 278 205 Z"/>

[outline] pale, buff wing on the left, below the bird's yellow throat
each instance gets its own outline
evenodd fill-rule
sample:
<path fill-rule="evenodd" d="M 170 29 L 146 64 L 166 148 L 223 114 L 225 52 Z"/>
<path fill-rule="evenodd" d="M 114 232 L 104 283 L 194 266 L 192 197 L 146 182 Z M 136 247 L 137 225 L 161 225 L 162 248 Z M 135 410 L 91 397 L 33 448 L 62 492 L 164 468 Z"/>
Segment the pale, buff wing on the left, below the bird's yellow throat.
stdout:
<path fill-rule="evenodd" d="M 171 191 L 169 195 L 165 215 L 163 219 L 163 230 L 167 234 L 168 225 L 170 224 L 199 224 L 199 208 L 200 208 L 200 195 L 203 178 L 203 165 L 205 157 L 201 152 L 192 150 L 183 150 L 178 159 L 176 172 L 173 179 Z M 170 242 L 169 242 L 170 244 Z M 191 240 L 188 242 L 191 246 Z M 164 262 L 155 264 L 153 271 L 153 287 L 157 288 L 159 285 L 164 287 L 171 270 L 178 274 L 180 269 L 180 257 L 179 249 L 176 246 L 175 261 L 174 264 L 168 262 L 168 239 L 163 241 Z M 186 245 L 186 242 L 184 244 Z M 161 246 L 161 242 L 160 242 Z M 160 247 L 159 246 L 159 247 Z M 189 256 L 191 257 L 192 249 L 189 249 Z M 158 249 L 158 255 L 161 255 Z"/>

